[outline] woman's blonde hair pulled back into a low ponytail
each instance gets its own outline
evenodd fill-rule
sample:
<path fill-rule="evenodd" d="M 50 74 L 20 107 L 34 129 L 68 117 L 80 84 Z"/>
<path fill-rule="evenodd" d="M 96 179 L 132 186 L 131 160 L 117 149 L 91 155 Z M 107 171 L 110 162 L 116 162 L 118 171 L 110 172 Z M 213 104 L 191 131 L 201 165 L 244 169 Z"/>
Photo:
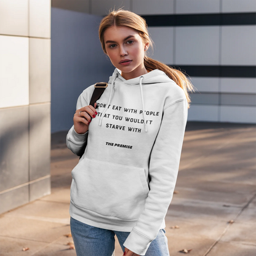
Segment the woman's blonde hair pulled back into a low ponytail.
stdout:
<path fill-rule="evenodd" d="M 104 32 L 107 28 L 111 26 L 127 26 L 129 28 L 134 29 L 138 32 L 140 37 L 144 42 L 149 42 L 150 46 L 153 48 L 153 41 L 148 33 L 148 25 L 146 24 L 146 20 L 134 12 L 130 12 L 129 10 L 112 10 L 108 15 L 106 15 L 102 21 L 100 22 L 100 26 L 98 29 L 98 36 L 100 38 L 100 42 L 102 44 L 102 49 L 106 53 L 106 46 L 104 42 Z M 188 108 L 190 108 L 190 96 L 188 95 L 188 90 L 194 91 L 193 85 L 190 80 L 186 77 L 185 73 L 182 73 L 180 70 L 175 70 L 174 68 L 170 68 L 166 64 L 159 62 L 158 60 L 153 60 L 146 55 L 144 55 L 144 65 L 147 71 L 152 70 L 161 70 L 169 76 L 178 86 L 180 86 L 186 95 L 186 100 L 188 101 Z"/>

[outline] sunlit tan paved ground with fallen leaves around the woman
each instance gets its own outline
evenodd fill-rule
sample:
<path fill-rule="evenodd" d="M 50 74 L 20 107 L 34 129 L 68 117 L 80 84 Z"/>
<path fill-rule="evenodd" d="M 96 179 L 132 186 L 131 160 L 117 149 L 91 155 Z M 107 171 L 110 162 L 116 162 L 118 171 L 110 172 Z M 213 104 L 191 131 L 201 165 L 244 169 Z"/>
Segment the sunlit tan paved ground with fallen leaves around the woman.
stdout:
<path fill-rule="evenodd" d="M 0 215 L 1 256 L 76 255 L 64 235 L 78 157 L 65 136 L 52 135 L 52 193 Z M 256 125 L 188 122 L 175 191 L 166 216 L 170 256 L 255 256 Z"/>

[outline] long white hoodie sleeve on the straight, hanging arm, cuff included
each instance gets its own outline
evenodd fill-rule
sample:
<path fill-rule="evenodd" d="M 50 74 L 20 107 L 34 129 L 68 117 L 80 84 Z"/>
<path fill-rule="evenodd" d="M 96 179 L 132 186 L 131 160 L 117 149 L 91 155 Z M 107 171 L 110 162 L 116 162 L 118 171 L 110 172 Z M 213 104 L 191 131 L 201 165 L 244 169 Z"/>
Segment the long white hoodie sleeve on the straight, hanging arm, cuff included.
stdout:
<path fill-rule="evenodd" d="M 186 98 L 176 100 L 164 108 L 161 127 L 150 156 L 150 191 L 145 209 L 124 242 L 124 246 L 135 254 L 146 254 L 158 235 L 172 201 L 187 118 Z"/>

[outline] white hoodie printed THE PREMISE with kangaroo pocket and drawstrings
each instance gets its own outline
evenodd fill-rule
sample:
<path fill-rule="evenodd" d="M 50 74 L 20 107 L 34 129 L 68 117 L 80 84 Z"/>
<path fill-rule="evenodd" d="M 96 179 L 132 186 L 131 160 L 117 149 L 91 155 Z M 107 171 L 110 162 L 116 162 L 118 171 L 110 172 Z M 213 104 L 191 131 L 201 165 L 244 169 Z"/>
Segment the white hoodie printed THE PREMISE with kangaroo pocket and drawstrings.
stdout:
<path fill-rule="evenodd" d="M 172 201 L 188 116 L 185 92 L 153 70 L 126 80 L 114 70 L 97 100 L 86 134 L 74 126 L 68 148 L 86 151 L 71 172 L 71 217 L 87 225 L 130 232 L 124 246 L 145 255 Z M 85 89 L 76 108 L 90 103 Z"/>

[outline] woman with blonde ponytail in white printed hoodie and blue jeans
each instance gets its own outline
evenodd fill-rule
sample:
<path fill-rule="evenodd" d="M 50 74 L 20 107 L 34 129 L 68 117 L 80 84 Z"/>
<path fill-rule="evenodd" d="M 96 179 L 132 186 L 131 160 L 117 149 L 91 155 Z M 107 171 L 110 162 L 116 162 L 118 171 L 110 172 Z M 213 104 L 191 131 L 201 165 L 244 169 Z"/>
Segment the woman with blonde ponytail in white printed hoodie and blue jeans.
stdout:
<path fill-rule="evenodd" d="M 165 216 L 174 193 L 189 108 L 186 76 L 146 57 L 145 20 L 114 10 L 99 28 L 116 67 L 102 96 L 94 85 L 78 98 L 67 145 L 71 172 L 70 226 L 78 256 L 110 256 L 114 235 L 126 256 L 169 255 Z M 96 110 L 97 108 L 97 110 Z"/>

